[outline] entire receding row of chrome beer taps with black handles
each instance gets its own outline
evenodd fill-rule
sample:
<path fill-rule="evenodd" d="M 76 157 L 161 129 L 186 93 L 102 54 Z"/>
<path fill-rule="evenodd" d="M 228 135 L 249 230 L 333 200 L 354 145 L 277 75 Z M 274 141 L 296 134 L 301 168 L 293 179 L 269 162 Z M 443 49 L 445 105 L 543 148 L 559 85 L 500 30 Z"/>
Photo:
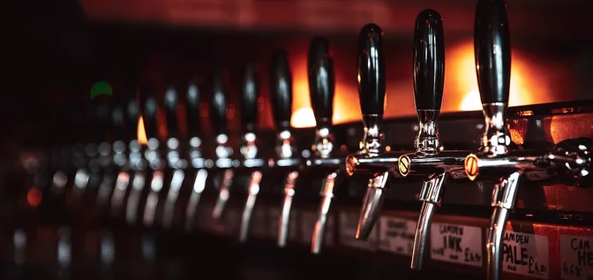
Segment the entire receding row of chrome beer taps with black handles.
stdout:
<path fill-rule="evenodd" d="M 438 118 L 444 87 L 444 25 L 435 10 L 423 10 L 416 18 L 413 41 L 414 98 L 418 113 L 418 135 L 414 151 L 387 152 L 383 137 L 383 111 L 386 94 L 385 51 L 383 31 L 374 24 L 360 30 L 357 50 L 357 83 L 364 125 L 360 151 L 342 155 L 334 148 L 332 132 L 335 91 L 334 64 L 329 41 L 315 38 L 308 52 L 308 83 L 315 115 L 313 156 L 304 158 L 296 151 L 292 117 L 292 73 L 288 54 L 276 50 L 269 65 L 269 91 L 273 119 L 277 128 L 273 161 L 260 156 L 257 139 L 257 99 L 259 86 L 253 63 L 245 66 L 241 84 L 240 160 L 233 157 L 229 144 L 227 95 L 220 73 L 214 77 L 210 120 L 215 134 L 215 158 L 207 159 L 203 151 L 204 134 L 200 130 L 200 98 L 198 85 L 190 84 L 186 92 L 187 143 L 182 144 L 177 130 L 179 92 L 175 87 L 164 90 L 164 111 L 168 137 L 164 145 L 158 140 L 158 102 L 154 84 L 142 83 L 137 89 L 138 100 L 119 102 L 111 109 L 112 123 L 120 137 L 110 143 L 112 151 L 93 153 L 88 158 L 107 155 L 116 169 L 104 167 L 97 193 L 97 205 L 109 204 L 110 213 L 123 213 L 125 223 L 137 220 L 148 227 L 156 222 L 165 229 L 174 224 L 175 213 L 183 212 L 184 229 L 193 231 L 200 198 L 207 190 L 209 177 L 217 176 L 216 201 L 212 209 L 214 221 L 224 220 L 229 198 L 233 195 L 237 174 L 249 174 L 238 239 L 247 241 L 254 205 L 260 183 L 268 171 L 281 171 L 284 194 L 278 217 L 278 246 L 287 245 L 293 197 L 301 174 L 324 178 L 320 190 L 320 209 L 311 237 L 311 252 L 320 253 L 327 219 L 336 188 L 348 176 L 369 179 L 362 201 L 355 238 L 367 239 L 377 218 L 388 188 L 397 188 L 397 180 L 408 176 L 424 181 L 418 200 L 422 202 L 414 239 L 411 268 L 421 269 L 425 260 L 432 217 L 441 206 L 447 183 L 454 180 L 479 180 L 495 183 L 491 206 L 493 215 L 487 231 L 486 262 L 488 279 L 500 279 L 502 273 L 503 236 L 505 225 L 514 207 L 517 188 L 530 172 L 547 172 L 550 180 L 571 186 L 592 185 L 591 139 L 563 141 L 550 151 L 526 151 L 513 144 L 507 130 L 506 111 L 510 92 L 511 47 L 506 4 L 503 0 L 479 0 L 475 13 L 475 63 L 482 100 L 485 132 L 482 144 L 475 151 L 450 151 L 439 141 Z M 136 121 L 142 116 L 147 143 L 135 139 Z M 397 135 L 397 134 L 396 134 Z M 111 167 L 110 167 L 111 168 Z M 83 190 L 89 181 L 90 160 L 76 165 L 74 190 Z M 114 171 L 115 170 L 115 171 Z M 146 172 L 149 170 L 149 172 Z M 111 172 L 111 173 L 110 173 Z M 188 183 L 190 182 L 190 183 Z M 177 202 L 184 184 L 191 193 L 184 207 Z M 65 185 L 64 173 L 56 169 L 53 189 Z M 164 192 L 166 190 L 166 193 Z M 146 204 L 140 205 L 142 195 Z M 143 207 L 143 209 L 141 209 Z"/>

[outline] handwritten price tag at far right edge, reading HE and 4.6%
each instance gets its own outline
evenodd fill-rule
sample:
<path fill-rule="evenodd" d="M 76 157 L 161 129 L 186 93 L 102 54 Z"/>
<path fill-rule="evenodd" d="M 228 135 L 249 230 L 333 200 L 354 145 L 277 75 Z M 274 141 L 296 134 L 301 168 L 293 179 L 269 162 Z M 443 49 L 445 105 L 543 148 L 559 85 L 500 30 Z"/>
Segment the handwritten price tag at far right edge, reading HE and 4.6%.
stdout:
<path fill-rule="evenodd" d="M 562 279 L 593 279 L 593 237 L 560 235 Z"/>

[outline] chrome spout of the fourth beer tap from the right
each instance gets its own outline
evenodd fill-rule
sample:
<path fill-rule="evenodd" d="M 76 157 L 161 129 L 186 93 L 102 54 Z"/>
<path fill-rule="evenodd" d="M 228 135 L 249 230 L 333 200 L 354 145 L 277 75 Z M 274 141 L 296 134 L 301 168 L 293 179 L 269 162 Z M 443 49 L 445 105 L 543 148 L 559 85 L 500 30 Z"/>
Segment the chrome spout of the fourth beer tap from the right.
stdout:
<path fill-rule="evenodd" d="M 313 230 L 313 237 L 311 238 L 311 253 L 318 254 L 321 252 L 323 239 L 325 237 L 325 228 L 327 223 L 327 214 L 329 207 L 332 206 L 332 199 L 334 198 L 334 187 L 336 186 L 336 178 L 339 172 L 334 172 L 325 177 L 325 185 L 321 190 L 321 205 L 319 209 L 319 217 L 315 223 Z"/>

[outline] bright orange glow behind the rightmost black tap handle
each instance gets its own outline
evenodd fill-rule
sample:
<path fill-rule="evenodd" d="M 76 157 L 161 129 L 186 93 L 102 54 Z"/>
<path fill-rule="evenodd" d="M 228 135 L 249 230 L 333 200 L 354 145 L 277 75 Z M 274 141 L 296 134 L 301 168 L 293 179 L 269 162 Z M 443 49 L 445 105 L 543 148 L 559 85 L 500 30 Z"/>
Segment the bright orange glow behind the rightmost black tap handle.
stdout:
<path fill-rule="evenodd" d="M 482 110 L 477 86 L 473 42 L 452 48 L 450 52 L 447 52 L 447 62 L 444 93 L 444 101 L 447 104 L 444 104 L 443 109 L 445 111 Z M 550 96 L 550 85 L 545 78 L 542 78 L 540 69 L 532 65 L 520 52 L 513 50 L 509 106 L 542 103 Z M 458 97 L 456 98 L 456 96 Z M 536 99 L 535 96 L 538 98 Z M 458 106 L 451 106 L 453 105 L 451 102 L 457 100 L 460 100 Z"/>

